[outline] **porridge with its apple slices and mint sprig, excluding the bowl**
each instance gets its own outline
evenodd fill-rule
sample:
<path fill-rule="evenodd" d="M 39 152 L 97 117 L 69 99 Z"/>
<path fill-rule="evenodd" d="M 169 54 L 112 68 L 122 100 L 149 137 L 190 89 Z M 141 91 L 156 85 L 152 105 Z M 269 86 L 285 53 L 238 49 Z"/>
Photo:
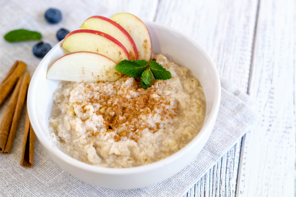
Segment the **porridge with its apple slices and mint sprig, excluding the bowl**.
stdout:
<path fill-rule="evenodd" d="M 63 80 L 48 121 L 64 153 L 95 166 L 135 167 L 172 155 L 198 134 L 206 113 L 199 81 L 152 54 L 138 17 L 92 16 L 80 28 L 64 38 L 69 53 L 47 70 L 47 79 Z"/>

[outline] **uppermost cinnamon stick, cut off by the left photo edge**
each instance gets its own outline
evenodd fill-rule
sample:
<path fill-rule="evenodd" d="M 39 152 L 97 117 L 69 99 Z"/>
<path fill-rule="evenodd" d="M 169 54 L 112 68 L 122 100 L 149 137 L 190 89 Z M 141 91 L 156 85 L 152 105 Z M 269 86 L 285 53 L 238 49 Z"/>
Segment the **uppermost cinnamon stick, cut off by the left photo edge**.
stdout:
<path fill-rule="evenodd" d="M 22 76 L 23 72 L 26 70 L 26 67 L 27 65 L 24 62 L 20 61 L 13 71 L 10 69 L 8 73 L 9 76 L 6 76 L 7 79 L 5 78 L 5 80 L 3 80 L 3 82 L 0 84 L 0 106 L 2 106 L 9 93 L 13 90 L 14 85 Z"/>

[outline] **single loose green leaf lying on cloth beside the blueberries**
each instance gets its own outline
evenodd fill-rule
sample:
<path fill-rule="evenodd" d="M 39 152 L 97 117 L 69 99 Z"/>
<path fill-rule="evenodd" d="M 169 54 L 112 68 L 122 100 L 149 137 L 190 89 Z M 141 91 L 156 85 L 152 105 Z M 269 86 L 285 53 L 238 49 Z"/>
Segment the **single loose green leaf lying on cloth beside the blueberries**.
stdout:
<path fill-rule="evenodd" d="M 29 31 L 24 29 L 13 30 L 8 32 L 4 39 L 8 42 L 20 42 L 25 40 L 40 40 L 41 34 L 37 31 Z"/>

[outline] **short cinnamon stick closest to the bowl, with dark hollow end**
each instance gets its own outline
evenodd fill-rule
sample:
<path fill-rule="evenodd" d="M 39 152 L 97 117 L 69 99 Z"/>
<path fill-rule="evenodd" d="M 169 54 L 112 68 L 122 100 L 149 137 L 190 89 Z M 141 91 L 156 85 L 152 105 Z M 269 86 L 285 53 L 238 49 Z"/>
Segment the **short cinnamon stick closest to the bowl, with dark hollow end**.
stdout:
<path fill-rule="evenodd" d="M 24 131 L 23 153 L 22 153 L 22 159 L 21 159 L 22 167 L 30 168 L 34 166 L 34 149 L 35 149 L 35 133 L 31 126 L 28 111 L 27 111 L 25 131 Z"/>

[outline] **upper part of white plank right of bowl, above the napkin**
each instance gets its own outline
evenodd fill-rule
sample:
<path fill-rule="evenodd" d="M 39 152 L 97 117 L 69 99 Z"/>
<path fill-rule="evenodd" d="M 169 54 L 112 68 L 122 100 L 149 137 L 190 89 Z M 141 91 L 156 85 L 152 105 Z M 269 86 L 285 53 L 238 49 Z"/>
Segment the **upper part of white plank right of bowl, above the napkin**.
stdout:
<path fill-rule="evenodd" d="M 160 1 L 155 22 L 198 41 L 221 77 L 248 87 L 257 0 Z"/>

